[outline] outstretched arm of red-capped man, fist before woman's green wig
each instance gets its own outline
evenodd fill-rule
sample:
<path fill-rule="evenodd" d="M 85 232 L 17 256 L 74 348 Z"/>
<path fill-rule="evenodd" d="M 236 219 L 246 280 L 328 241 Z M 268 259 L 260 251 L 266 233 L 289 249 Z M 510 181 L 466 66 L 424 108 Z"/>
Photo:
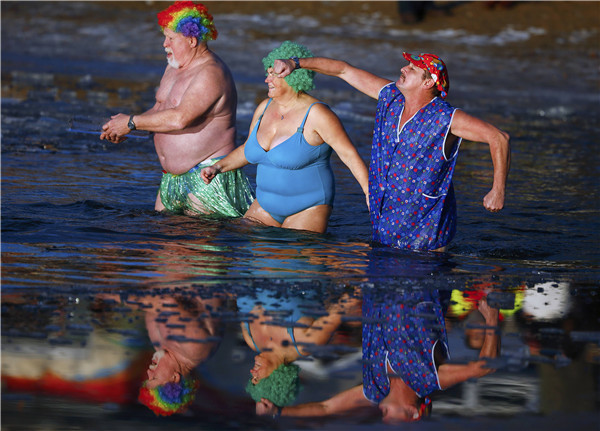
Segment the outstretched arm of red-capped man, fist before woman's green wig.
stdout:
<path fill-rule="evenodd" d="M 341 60 L 326 57 L 308 57 L 301 58 L 299 61 L 301 68 L 343 79 L 358 91 L 373 99 L 377 99 L 379 97 L 379 90 L 391 82 L 389 79 L 381 78 Z M 294 67 L 294 60 L 275 60 L 273 71 L 283 78 L 292 73 Z"/>

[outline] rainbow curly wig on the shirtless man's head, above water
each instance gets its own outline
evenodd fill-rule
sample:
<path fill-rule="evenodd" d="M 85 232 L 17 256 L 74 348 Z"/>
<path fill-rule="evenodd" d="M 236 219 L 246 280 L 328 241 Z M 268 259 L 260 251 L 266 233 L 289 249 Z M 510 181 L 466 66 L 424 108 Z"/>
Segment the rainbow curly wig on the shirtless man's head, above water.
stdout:
<path fill-rule="evenodd" d="M 195 37 L 199 41 L 215 40 L 217 29 L 213 17 L 206 6 L 192 1 L 176 1 L 157 14 L 158 25 L 164 31 L 170 28 L 185 37 Z"/>

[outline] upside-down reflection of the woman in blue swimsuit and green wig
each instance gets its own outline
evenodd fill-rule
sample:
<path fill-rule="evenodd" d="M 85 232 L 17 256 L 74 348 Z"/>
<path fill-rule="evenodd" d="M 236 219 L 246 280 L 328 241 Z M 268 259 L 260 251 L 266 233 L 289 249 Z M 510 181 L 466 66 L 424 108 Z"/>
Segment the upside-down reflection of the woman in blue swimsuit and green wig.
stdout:
<path fill-rule="evenodd" d="M 256 402 L 266 398 L 280 407 L 291 404 L 299 392 L 299 367 L 293 362 L 318 352 L 358 304 L 343 293 L 323 310 L 320 289 L 284 287 L 259 287 L 237 297 L 244 340 L 258 353 L 246 391 Z"/>

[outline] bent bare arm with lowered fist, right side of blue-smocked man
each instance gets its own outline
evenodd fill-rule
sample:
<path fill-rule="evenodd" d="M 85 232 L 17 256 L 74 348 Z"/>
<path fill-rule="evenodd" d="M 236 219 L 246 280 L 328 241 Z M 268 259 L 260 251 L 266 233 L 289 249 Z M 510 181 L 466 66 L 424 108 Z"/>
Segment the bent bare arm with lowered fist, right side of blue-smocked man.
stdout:
<path fill-rule="evenodd" d="M 510 170 L 510 136 L 490 123 L 456 110 L 450 131 L 453 135 L 490 146 L 494 166 L 492 189 L 483 198 L 483 206 L 491 212 L 504 208 L 508 171 Z"/>

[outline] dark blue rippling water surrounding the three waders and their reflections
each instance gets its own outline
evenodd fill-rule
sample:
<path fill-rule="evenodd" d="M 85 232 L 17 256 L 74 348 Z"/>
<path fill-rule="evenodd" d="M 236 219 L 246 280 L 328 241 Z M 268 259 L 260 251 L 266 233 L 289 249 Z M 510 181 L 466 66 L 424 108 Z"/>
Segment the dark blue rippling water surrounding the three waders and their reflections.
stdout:
<path fill-rule="evenodd" d="M 151 139 L 113 145 L 68 131 L 74 117 L 100 125 L 153 104 L 162 37 L 152 5 L 131 5 L 2 2 L 2 429 L 383 427 L 377 416 L 257 418 L 244 392 L 254 353 L 237 302 L 263 291 L 276 303 L 316 295 L 310 312 L 322 315 L 344 295 L 411 289 L 439 293 L 457 362 L 478 353 L 463 341 L 473 298 L 493 291 L 503 307 L 497 371 L 434 396 L 431 418 L 411 429 L 598 429 L 600 44 L 581 47 L 598 42 L 597 29 L 527 52 L 543 29 L 480 36 L 451 25 L 425 33 L 385 16 L 325 26 L 273 12 L 215 17 L 210 46 L 236 79 L 240 144 L 266 96 L 260 59 L 283 40 L 390 79 L 402 51 L 446 59 L 450 102 L 511 135 L 512 167 L 506 208 L 488 213 L 489 149 L 463 143 L 458 233 L 447 253 L 431 254 L 369 243 L 364 198 L 337 156 L 324 235 L 156 213 Z M 332 78 L 316 85 L 368 161 L 375 101 Z M 254 183 L 255 169 L 246 173 Z M 148 311 L 135 305 L 182 295 L 223 298 L 212 310 L 218 348 L 198 367 L 193 408 L 157 418 L 136 401 L 153 349 Z M 329 344 L 297 361 L 297 403 L 361 383 L 360 314 L 348 312 Z"/>

